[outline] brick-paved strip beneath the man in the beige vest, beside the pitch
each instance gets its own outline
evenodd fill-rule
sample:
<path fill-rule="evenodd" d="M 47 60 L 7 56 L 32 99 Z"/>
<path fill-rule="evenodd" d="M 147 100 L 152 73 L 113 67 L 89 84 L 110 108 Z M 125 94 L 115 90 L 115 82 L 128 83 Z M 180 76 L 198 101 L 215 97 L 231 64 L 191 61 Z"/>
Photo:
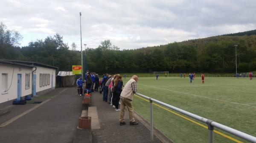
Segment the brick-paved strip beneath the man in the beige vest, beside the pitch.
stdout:
<path fill-rule="evenodd" d="M 125 112 L 126 125 L 119 125 L 119 111 L 102 101 L 102 94 L 92 93 L 92 104 L 98 111 L 100 129 L 93 129 L 93 143 L 150 143 L 150 131 L 139 122 L 129 125 L 128 111 Z M 154 136 L 154 143 L 161 143 Z"/>

